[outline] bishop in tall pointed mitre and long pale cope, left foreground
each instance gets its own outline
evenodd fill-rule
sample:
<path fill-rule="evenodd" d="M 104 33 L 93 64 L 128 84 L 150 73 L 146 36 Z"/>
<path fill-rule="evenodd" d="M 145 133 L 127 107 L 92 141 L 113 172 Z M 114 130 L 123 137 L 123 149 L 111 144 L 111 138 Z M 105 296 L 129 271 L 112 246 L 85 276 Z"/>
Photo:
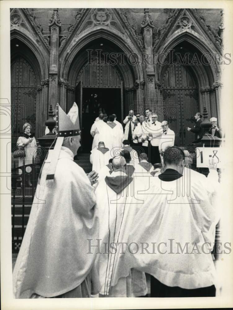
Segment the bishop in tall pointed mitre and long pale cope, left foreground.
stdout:
<path fill-rule="evenodd" d="M 72 120 L 77 105 L 71 110 L 66 115 L 56 108 L 61 111 L 57 134 L 71 135 L 58 136 L 44 161 L 13 271 L 15 298 L 91 297 L 91 281 L 92 294 L 98 293 L 95 255 L 87 254 L 87 239 L 99 236 L 96 197 L 73 161 L 80 135 Z"/>

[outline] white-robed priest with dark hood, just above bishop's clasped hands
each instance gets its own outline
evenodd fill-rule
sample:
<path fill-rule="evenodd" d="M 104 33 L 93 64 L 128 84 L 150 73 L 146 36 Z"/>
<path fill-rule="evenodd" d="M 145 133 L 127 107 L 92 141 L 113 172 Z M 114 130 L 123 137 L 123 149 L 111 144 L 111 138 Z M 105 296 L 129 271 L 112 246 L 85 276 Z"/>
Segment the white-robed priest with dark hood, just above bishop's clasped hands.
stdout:
<path fill-rule="evenodd" d="M 110 159 L 110 151 L 109 148 L 105 148 L 104 142 L 100 141 L 98 143 L 98 148 L 94 148 L 91 151 L 90 162 L 92 164 L 92 170 L 97 173 L 103 168 L 105 165 L 109 163 Z"/>

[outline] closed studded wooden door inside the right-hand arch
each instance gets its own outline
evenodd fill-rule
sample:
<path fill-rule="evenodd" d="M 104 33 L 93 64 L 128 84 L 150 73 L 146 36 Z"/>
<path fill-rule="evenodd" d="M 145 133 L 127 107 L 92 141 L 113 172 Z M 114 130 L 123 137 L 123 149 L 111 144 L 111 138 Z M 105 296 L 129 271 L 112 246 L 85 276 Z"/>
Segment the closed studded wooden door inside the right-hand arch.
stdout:
<path fill-rule="evenodd" d="M 194 115 L 199 112 L 198 84 L 188 66 L 171 64 L 162 79 L 162 95 L 169 127 L 175 132 L 175 145 L 192 146 L 195 135 L 186 130 L 195 125 Z"/>

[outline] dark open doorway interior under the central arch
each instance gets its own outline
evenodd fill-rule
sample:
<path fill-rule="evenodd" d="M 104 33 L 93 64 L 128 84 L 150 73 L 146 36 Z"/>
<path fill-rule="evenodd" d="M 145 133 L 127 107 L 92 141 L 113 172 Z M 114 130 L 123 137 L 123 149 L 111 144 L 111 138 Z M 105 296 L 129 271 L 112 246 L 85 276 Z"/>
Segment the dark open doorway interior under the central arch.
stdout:
<path fill-rule="evenodd" d="M 115 113 L 121 122 L 120 88 L 85 88 L 83 87 L 82 111 L 82 148 L 78 153 L 89 153 L 92 149 L 91 126 L 99 111 L 107 115 Z"/>

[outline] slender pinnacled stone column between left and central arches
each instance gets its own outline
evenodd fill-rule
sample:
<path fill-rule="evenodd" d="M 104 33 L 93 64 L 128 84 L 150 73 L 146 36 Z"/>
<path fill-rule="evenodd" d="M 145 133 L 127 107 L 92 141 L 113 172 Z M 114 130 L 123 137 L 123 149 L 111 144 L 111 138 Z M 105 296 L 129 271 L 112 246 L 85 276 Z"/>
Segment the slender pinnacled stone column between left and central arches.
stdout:
<path fill-rule="evenodd" d="M 58 9 L 53 9 L 52 17 L 49 21 L 50 29 L 50 65 L 49 65 L 49 103 L 53 109 L 58 102 L 58 48 L 59 32 L 61 22 L 58 15 Z M 61 103 L 60 103 L 61 104 Z"/>

